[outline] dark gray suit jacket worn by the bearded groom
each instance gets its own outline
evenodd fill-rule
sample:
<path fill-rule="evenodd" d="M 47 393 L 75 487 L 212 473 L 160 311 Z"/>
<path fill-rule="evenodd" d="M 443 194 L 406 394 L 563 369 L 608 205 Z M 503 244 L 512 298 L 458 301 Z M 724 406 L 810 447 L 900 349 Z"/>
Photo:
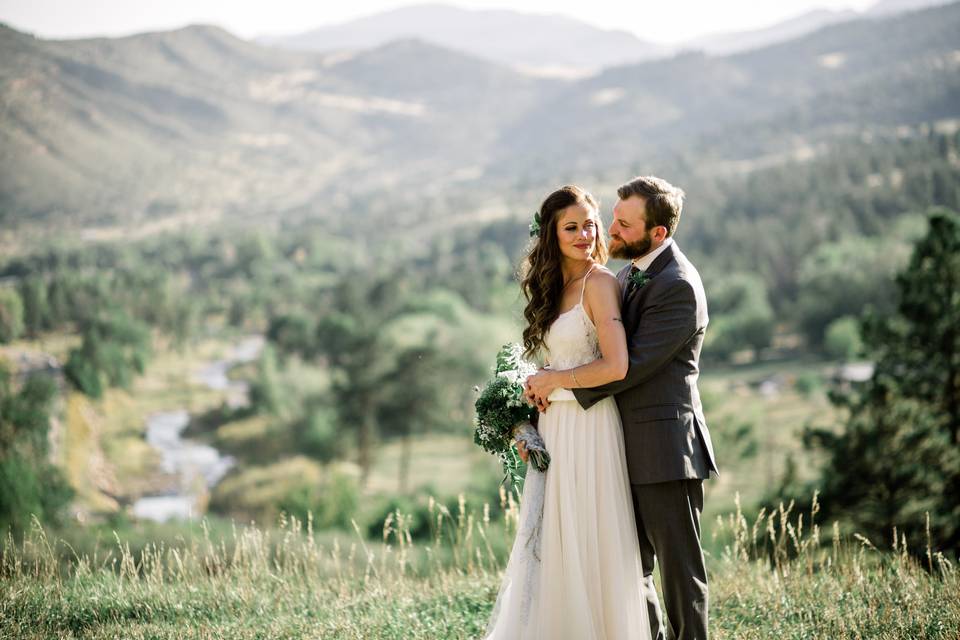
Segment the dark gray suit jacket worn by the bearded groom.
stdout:
<path fill-rule="evenodd" d="M 630 265 L 617 274 L 630 367 L 623 380 L 574 389 L 584 409 L 613 395 L 623 421 L 632 484 L 707 478 L 717 473 L 697 379 L 707 328 L 700 274 L 674 242 L 628 288 Z"/>

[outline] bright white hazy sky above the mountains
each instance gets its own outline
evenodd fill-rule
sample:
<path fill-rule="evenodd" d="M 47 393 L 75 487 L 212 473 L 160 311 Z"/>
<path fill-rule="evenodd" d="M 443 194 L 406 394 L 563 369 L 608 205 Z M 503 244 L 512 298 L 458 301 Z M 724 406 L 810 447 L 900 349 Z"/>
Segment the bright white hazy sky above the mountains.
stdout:
<path fill-rule="evenodd" d="M 458 0 L 476 9 L 559 13 L 589 24 L 677 43 L 718 31 L 767 26 L 811 9 L 864 9 L 875 0 Z M 0 0 L 0 22 L 45 38 L 126 35 L 217 24 L 242 37 L 299 33 L 416 2 L 403 0 Z"/>

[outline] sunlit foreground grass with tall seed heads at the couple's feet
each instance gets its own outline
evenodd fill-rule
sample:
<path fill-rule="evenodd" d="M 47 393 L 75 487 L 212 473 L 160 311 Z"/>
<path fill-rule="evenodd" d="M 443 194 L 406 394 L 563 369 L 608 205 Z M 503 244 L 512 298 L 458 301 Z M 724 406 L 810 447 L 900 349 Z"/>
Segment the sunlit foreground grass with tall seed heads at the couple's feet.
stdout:
<path fill-rule="evenodd" d="M 504 561 L 486 536 L 512 535 L 516 509 L 500 527 L 481 513 L 435 515 L 423 544 L 402 516 L 379 544 L 321 541 L 292 521 L 141 552 L 117 538 L 66 563 L 38 528 L 4 548 L 0 637 L 480 638 Z M 960 636 L 960 573 L 929 549 L 918 559 L 899 543 L 831 539 L 811 512 L 734 513 L 723 527 L 730 544 L 708 561 L 718 640 Z"/>

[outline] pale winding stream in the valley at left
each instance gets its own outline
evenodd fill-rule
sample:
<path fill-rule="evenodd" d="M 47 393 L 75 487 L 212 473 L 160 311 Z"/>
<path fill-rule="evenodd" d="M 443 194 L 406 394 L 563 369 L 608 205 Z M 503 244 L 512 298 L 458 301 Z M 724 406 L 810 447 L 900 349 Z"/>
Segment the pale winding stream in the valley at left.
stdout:
<path fill-rule="evenodd" d="M 225 391 L 230 407 L 248 402 L 248 385 L 230 380 L 231 367 L 255 360 L 263 349 L 263 336 L 249 336 L 237 344 L 230 356 L 211 362 L 194 375 L 194 380 L 210 389 Z M 231 456 L 213 447 L 181 437 L 190 423 L 186 409 L 162 411 L 147 418 L 147 442 L 160 451 L 160 468 L 176 478 L 173 491 L 144 496 L 133 503 L 137 518 L 165 522 L 192 519 L 200 514 L 199 500 L 226 475 L 234 464 Z"/>

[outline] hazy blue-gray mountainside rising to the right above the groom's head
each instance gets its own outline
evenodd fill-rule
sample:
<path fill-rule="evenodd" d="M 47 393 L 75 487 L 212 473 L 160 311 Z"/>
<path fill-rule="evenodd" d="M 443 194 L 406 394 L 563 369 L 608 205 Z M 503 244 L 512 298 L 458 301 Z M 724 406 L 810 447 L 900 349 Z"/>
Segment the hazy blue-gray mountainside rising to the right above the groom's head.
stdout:
<path fill-rule="evenodd" d="M 509 170 L 532 171 L 569 149 L 579 151 L 564 167 L 572 175 L 673 151 L 747 159 L 873 127 L 955 119 L 957 33 L 960 3 L 840 23 L 731 56 L 611 68 L 517 119 L 503 141 L 526 166 Z"/>

